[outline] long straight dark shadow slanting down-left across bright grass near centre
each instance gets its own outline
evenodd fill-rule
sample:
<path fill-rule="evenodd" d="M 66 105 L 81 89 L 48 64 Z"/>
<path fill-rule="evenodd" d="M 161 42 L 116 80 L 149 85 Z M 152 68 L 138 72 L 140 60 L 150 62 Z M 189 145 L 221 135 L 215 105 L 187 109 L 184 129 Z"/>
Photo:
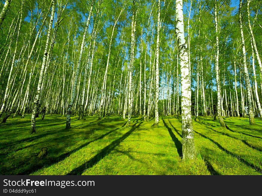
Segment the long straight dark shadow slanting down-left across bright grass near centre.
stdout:
<path fill-rule="evenodd" d="M 138 123 L 138 122 L 137 122 Z M 79 175 L 84 172 L 85 169 L 93 167 L 99 160 L 104 158 L 106 155 L 108 155 L 116 146 L 118 146 L 121 141 L 123 141 L 125 138 L 127 138 L 137 127 L 139 127 L 143 122 L 140 122 L 138 126 L 135 126 L 137 123 L 135 123 L 130 131 L 125 133 L 121 138 L 118 138 L 117 140 L 110 143 L 108 146 L 103 148 L 98 154 L 96 154 L 93 158 L 91 158 L 86 163 L 82 164 L 81 166 L 73 169 L 71 172 L 69 172 L 67 175 Z"/>

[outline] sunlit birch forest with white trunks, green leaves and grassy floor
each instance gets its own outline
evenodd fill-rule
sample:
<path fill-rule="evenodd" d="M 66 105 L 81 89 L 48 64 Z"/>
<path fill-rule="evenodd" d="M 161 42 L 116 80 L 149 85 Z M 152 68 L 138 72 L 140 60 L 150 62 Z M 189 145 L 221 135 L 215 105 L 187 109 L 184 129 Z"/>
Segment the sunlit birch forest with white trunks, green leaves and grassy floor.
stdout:
<path fill-rule="evenodd" d="M 153 153 L 167 169 L 116 174 L 262 174 L 262 1 L 2 0 L 0 12 L 2 174 L 114 174 L 99 163 L 135 134 L 126 163 Z M 174 172 L 175 154 L 197 171 Z"/>

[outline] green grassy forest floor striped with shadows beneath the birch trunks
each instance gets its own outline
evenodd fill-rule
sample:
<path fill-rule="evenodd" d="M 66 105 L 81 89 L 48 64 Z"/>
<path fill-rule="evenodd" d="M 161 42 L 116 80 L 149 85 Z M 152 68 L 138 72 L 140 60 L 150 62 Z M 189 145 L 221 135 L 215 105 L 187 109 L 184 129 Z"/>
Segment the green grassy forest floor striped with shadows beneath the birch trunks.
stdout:
<path fill-rule="evenodd" d="M 0 175 L 262 175 L 262 121 L 212 117 L 193 121 L 197 159 L 182 161 L 181 118 L 121 116 L 86 120 L 46 115 L 29 134 L 31 115 L 0 124 Z M 47 155 L 38 158 L 46 147 Z"/>

